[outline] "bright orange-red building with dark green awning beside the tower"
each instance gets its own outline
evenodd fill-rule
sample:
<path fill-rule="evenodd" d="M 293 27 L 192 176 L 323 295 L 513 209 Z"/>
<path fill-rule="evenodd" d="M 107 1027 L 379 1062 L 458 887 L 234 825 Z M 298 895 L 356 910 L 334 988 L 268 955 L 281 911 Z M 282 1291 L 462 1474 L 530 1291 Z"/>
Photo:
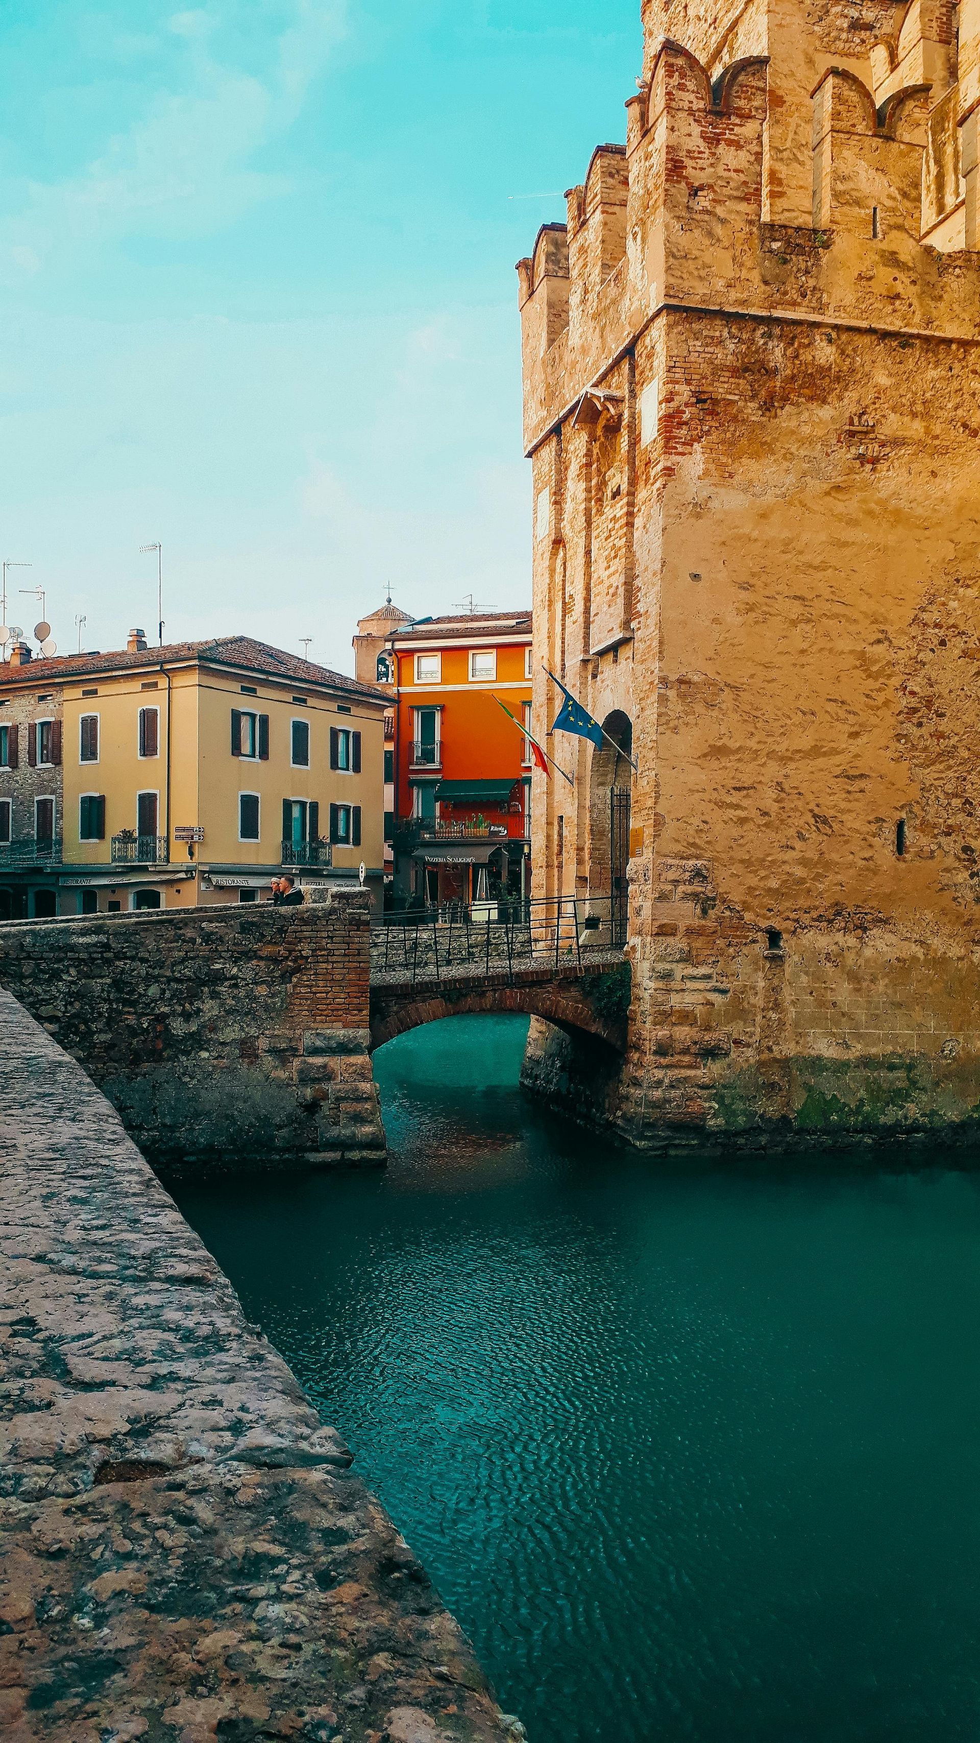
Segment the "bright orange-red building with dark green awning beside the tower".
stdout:
<path fill-rule="evenodd" d="M 357 626 L 357 675 L 390 685 L 386 872 L 395 901 L 496 903 L 531 892 L 531 612 Z M 513 715 L 508 720 L 503 713 Z"/>

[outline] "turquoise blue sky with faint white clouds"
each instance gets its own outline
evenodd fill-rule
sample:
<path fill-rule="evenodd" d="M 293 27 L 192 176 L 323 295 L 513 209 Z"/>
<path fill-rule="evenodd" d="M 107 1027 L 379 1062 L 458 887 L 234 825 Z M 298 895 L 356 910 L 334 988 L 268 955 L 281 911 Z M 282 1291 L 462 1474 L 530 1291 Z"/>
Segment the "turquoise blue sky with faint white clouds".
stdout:
<path fill-rule="evenodd" d="M 524 603 L 513 263 L 639 0 L 0 0 L 0 554 L 59 650 L 151 629 L 155 539 L 167 638 L 339 669 L 388 580 Z"/>

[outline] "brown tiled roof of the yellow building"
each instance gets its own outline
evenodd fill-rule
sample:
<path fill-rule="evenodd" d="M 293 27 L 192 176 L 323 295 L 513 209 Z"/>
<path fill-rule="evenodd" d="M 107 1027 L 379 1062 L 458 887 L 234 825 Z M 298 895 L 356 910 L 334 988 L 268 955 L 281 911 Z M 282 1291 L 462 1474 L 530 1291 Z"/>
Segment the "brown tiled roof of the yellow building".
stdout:
<path fill-rule="evenodd" d="M 233 666 L 237 671 L 251 671 L 261 678 L 317 683 L 371 701 L 388 701 L 386 692 L 371 683 L 359 683 L 339 671 L 331 671 L 329 666 L 317 666 L 315 661 L 301 659 L 298 654 L 285 654 L 284 648 L 273 648 L 266 641 L 254 641 L 252 636 L 171 641 L 162 648 L 148 647 L 138 652 L 118 648 L 113 654 L 64 654 L 54 659 L 33 659 L 26 666 L 0 666 L 0 687 L 17 685 L 33 690 L 38 683 L 66 683 L 71 678 L 94 678 L 99 673 L 146 671 L 160 664 L 181 666 L 188 662 Z"/>

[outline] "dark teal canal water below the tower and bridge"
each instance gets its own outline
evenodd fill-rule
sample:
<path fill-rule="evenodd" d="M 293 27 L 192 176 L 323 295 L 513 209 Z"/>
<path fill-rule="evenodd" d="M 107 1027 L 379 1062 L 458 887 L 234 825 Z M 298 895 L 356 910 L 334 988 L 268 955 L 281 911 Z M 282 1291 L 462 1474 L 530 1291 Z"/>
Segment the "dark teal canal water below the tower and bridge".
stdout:
<path fill-rule="evenodd" d="M 376 1056 L 383 1177 L 178 1187 L 249 1318 L 531 1743 L 977 1743 L 980 1173 L 637 1157 L 524 1032 Z"/>

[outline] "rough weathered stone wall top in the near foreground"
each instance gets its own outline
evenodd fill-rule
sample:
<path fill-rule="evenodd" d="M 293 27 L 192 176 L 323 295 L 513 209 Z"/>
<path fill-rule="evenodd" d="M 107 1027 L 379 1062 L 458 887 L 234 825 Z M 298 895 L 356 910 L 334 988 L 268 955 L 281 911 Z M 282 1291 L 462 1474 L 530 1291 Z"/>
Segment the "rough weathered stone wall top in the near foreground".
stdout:
<path fill-rule="evenodd" d="M 0 992 L 7 1743 L 520 1738 L 80 1067 Z"/>

